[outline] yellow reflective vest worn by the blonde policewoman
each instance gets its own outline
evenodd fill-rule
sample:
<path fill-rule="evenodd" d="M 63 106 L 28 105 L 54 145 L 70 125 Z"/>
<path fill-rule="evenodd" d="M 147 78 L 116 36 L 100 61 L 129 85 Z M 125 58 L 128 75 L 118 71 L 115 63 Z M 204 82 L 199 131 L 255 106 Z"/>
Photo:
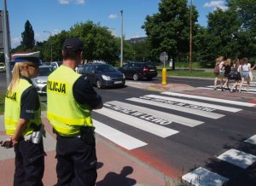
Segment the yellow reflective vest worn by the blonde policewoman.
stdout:
<path fill-rule="evenodd" d="M 16 127 L 20 120 L 20 104 L 21 104 L 21 96 L 24 90 L 31 87 L 26 79 L 20 78 L 20 81 L 15 85 L 15 89 L 13 91 L 7 90 L 5 96 L 5 109 L 4 109 L 4 123 L 5 123 L 5 131 L 8 135 L 14 135 L 16 131 Z M 38 98 L 39 99 L 39 98 Z M 36 125 L 41 125 L 41 108 L 35 112 L 34 119 L 30 119 L 27 124 L 25 130 L 22 132 L 22 136 L 25 137 L 32 133 L 33 129 L 31 124 L 34 123 Z"/>

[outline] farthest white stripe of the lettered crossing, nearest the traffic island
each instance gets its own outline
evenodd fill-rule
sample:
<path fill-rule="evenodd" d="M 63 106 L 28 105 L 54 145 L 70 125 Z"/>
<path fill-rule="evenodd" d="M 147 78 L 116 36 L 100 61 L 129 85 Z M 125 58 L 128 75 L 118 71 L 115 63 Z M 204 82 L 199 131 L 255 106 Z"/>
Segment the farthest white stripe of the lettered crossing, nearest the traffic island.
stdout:
<path fill-rule="evenodd" d="M 218 98 L 213 98 L 213 97 L 186 95 L 186 94 L 180 94 L 180 93 L 175 93 L 175 92 L 162 92 L 161 94 L 165 94 L 165 95 L 169 95 L 169 96 L 181 96 L 181 97 L 206 100 L 206 101 L 211 101 L 211 102 L 221 102 L 221 103 L 246 106 L 246 107 L 254 107 L 256 105 L 256 104 L 249 103 L 249 102 L 236 102 L 236 101 L 218 99 Z"/>

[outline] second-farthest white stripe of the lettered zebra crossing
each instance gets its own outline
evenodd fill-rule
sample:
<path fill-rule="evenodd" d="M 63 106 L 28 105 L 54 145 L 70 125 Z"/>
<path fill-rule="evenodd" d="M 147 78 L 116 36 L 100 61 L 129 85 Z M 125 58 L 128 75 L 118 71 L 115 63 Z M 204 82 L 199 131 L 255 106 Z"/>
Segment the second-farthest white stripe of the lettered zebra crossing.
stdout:
<path fill-rule="evenodd" d="M 166 93 L 168 93 L 168 92 L 166 92 Z M 170 92 L 170 93 L 172 93 L 172 92 Z M 175 98 L 175 97 L 156 96 L 156 95 L 147 95 L 147 96 L 148 97 L 165 99 L 165 100 L 169 100 L 169 101 L 172 101 L 172 102 L 183 102 L 183 103 L 197 105 L 197 106 L 206 107 L 206 108 L 215 108 L 215 109 L 218 109 L 218 110 L 224 110 L 224 111 L 231 112 L 231 113 L 237 113 L 237 112 L 241 111 L 240 108 L 230 108 L 230 107 L 225 107 L 225 106 L 221 106 L 221 105 L 215 105 L 215 104 L 206 103 L 206 102 L 189 101 L 189 100 L 179 99 L 179 98 Z"/>

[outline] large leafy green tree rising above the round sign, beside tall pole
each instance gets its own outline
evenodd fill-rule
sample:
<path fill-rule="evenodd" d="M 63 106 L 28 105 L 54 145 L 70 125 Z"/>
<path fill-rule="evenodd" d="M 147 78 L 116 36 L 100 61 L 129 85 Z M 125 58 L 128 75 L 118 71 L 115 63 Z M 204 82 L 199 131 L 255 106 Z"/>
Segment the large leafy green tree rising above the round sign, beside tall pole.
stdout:
<path fill-rule="evenodd" d="M 147 16 L 142 26 L 151 44 L 151 55 L 159 57 L 166 51 L 174 59 L 179 53 L 189 51 L 189 7 L 187 0 L 161 0 L 159 13 Z M 192 9 L 192 21 L 197 21 L 198 12 Z"/>

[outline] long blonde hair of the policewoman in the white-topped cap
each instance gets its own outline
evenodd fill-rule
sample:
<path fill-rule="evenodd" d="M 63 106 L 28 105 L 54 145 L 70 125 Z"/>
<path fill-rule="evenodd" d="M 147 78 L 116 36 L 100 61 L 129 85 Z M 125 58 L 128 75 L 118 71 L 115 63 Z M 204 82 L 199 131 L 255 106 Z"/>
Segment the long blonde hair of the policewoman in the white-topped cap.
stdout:
<path fill-rule="evenodd" d="M 20 73 L 23 70 L 23 67 L 25 67 L 26 65 L 33 65 L 34 63 L 26 61 L 26 62 L 16 62 L 15 63 L 15 67 L 13 70 L 13 78 L 9 84 L 9 91 L 12 91 L 15 89 L 15 86 L 17 83 L 19 83 L 20 81 Z"/>

